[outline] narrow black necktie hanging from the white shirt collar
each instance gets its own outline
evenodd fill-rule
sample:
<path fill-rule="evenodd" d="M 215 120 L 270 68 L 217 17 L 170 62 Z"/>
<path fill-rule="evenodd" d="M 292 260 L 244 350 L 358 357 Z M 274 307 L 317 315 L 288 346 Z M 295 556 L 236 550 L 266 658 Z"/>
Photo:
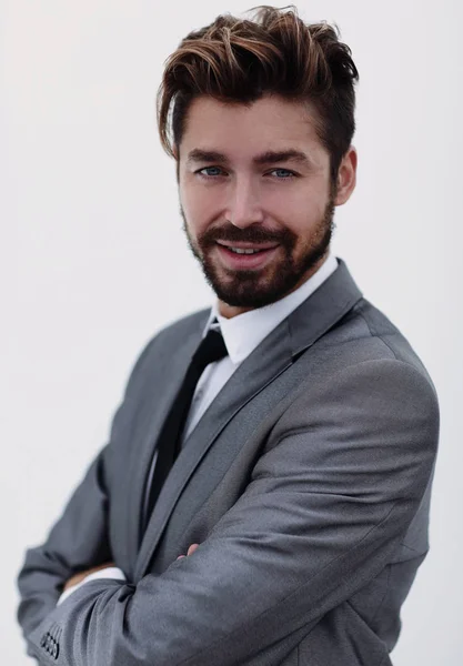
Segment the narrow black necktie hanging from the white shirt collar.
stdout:
<path fill-rule="evenodd" d="M 151 517 L 162 485 L 180 452 L 182 433 L 198 381 L 207 365 L 214 361 L 220 361 L 227 355 L 228 351 L 222 334 L 220 331 L 210 329 L 193 354 L 183 383 L 177 394 L 168 417 L 165 418 L 158 440 L 158 458 L 151 488 L 149 491 L 145 524 Z"/>

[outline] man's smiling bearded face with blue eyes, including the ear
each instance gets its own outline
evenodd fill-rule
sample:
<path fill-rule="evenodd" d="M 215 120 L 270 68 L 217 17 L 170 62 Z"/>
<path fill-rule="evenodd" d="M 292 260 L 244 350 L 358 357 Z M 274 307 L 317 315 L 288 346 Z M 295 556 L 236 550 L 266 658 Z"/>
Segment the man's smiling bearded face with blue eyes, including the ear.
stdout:
<path fill-rule="evenodd" d="M 278 301 L 324 261 L 334 206 L 355 185 L 356 153 L 350 149 L 332 186 L 306 105 L 197 98 L 179 155 L 184 230 L 221 314 Z"/>

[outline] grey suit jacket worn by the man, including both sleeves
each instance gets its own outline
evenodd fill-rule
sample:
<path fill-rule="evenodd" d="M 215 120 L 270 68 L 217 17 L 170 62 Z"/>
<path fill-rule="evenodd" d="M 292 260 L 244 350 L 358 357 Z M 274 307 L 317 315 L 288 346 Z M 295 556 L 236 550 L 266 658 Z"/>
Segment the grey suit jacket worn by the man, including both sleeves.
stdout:
<path fill-rule="evenodd" d="M 29 654 L 62 666 L 386 666 L 429 548 L 434 387 L 345 264 L 232 375 L 144 534 L 157 437 L 208 311 L 161 331 L 111 436 L 19 575 Z M 182 559 L 192 543 L 197 552 Z M 56 606 L 76 572 L 113 559 Z"/>

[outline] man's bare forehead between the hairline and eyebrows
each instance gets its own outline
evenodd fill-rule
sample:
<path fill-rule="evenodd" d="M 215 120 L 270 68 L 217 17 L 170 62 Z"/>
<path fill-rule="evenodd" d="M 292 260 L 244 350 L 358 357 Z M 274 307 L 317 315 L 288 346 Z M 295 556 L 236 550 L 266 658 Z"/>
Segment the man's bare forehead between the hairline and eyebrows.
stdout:
<path fill-rule="evenodd" d="M 310 103 L 266 95 L 252 103 L 230 103 L 211 97 L 194 99 L 185 119 L 181 157 L 197 148 L 251 154 L 280 147 L 325 152 L 315 131 Z"/>

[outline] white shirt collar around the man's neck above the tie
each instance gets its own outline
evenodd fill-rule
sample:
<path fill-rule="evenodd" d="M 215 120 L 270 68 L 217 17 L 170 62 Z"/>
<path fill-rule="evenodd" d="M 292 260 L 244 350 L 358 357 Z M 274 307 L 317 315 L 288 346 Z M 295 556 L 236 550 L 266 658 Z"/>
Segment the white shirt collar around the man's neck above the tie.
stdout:
<path fill-rule="evenodd" d="M 215 301 L 204 327 L 203 336 L 210 327 L 220 327 L 230 360 L 233 364 L 242 363 L 273 329 L 328 280 L 336 268 L 336 258 L 329 254 L 318 271 L 288 296 L 264 307 L 256 307 L 231 319 L 225 319 L 219 314 L 218 302 Z"/>

